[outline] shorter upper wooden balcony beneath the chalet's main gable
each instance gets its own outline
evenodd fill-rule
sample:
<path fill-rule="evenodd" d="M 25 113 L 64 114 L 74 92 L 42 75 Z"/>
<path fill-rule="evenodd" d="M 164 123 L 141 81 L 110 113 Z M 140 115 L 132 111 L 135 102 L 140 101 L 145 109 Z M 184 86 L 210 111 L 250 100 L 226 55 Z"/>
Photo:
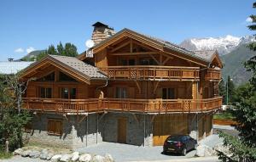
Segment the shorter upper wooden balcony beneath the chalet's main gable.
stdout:
<path fill-rule="evenodd" d="M 199 80 L 198 67 L 172 67 L 172 66 L 108 66 L 101 68 L 109 79 L 128 80 L 173 80 L 188 81 Z"/>

